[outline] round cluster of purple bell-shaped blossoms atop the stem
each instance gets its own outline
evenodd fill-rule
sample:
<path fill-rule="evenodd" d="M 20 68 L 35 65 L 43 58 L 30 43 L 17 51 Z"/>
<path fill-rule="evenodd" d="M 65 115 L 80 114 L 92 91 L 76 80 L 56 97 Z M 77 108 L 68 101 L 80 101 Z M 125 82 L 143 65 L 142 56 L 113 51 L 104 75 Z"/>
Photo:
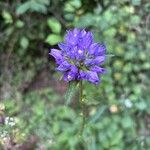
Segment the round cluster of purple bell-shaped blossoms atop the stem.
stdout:
<path fill-rule="evenodd" d="M 58 44 L 61 50 L 52 49 L 52 55 L 58 67 L 56 70 L 64 75 L 64 80 L 87 80 L 91 83 L 100 82 L 99 74 L 106 70 L 100 65 L 106 59 L 106 47 L 94 43 L 93 34 L 84 29 L 67 31 L 65 42 Z"/>

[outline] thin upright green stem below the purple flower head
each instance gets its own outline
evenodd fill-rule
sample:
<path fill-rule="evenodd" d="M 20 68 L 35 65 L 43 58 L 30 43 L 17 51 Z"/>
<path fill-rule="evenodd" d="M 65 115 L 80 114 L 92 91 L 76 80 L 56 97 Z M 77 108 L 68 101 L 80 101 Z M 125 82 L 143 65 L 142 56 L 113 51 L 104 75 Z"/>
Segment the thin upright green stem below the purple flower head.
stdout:
<path fill-rule="evenodd" d="M 80 81 L 79 83 L 79 90 L 80 90 L 80 108 L 81 108 L 81 117 L 82 117 L 82 125 L 81 125 L 81 130 L 80 134 L 82 134 L 84 125 L 85 125 L 85 108 L 84 108 L 84 97 L 83 97 L 83 83 Z"/>

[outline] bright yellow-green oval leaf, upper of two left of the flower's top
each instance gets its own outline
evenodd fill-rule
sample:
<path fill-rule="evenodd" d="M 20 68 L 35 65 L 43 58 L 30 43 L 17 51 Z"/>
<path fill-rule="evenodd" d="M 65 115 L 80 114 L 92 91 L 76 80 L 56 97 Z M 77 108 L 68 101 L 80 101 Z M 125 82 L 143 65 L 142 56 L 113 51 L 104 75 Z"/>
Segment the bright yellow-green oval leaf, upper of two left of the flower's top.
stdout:
<path fill-rule="evenodd" d="M 48 19 L 47 24 L 53 33 L 60 33 L 61 32 L 61 24 L 55 18 Z"/>

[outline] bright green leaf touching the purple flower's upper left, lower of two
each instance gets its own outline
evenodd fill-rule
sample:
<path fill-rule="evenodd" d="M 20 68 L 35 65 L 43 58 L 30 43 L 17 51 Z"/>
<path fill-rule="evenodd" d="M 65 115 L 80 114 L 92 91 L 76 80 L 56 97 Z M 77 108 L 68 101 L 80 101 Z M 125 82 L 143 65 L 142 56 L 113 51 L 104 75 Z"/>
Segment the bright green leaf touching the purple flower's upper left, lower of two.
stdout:
<path fill-rule="evenodd" d="M 50 34 L 46 38 L 45 42 L 50 44 L 50 45 L 56 45 L 57 43 L 62 41 L 62 37 L 60 35 L 56 34 Z"/>

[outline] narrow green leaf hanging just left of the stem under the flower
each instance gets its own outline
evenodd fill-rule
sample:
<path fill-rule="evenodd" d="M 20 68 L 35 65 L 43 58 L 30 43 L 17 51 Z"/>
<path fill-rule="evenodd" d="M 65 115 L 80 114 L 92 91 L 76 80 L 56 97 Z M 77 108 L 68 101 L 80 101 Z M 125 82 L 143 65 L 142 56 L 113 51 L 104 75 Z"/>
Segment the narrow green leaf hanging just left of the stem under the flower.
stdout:
<path fill-rule="evenodd" d="M 68 89 L 65 94 L 65 104 L 66 105 L 69 105 L 71 103 L 71 101 L 73 100 L 72 98 L 76 92 L 76 86 L 77 86 L 76 82 L 69 83 Z"/>

